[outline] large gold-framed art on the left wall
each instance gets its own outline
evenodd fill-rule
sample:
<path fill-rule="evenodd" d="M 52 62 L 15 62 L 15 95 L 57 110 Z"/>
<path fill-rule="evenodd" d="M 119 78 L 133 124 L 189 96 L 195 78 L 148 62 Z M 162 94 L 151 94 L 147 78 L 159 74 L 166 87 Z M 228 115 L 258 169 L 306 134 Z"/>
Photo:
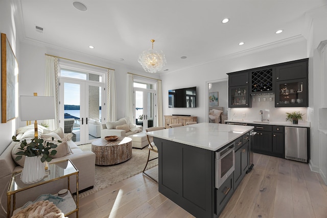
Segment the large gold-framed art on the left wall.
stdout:
<path fill-rule="evenodd" d="M 18 64 L 6 34 L 1 34 L 1 123 L 16 118 L 16 83 L 18 78 Z"/>

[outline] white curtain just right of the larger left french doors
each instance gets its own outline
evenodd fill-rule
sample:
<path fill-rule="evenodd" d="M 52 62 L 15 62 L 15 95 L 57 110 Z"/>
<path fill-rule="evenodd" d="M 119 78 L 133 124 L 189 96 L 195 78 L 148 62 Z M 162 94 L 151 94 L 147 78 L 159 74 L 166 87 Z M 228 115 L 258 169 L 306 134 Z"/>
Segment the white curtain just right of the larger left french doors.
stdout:
<path fill-rule="evenodd" d="M 116 107 L 116 84 L 114 79 L 114 70 L 108 69 L 107 74 L 107 122 L 114 122 L 117 120 L 117 107 Z"/>

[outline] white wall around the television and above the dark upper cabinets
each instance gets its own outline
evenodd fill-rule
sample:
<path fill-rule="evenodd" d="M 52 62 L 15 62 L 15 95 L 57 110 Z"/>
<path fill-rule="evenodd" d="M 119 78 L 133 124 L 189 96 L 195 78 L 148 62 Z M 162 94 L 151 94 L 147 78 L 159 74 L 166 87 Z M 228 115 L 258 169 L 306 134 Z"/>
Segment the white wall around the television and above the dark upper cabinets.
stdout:
<path fill-rule="evenodd" d="M 293 43 L 285 43 L 282 46 L 272 46 L 269 49 L 259 48 L 257 52 L 245 52 L 234 56 L 227 56 L 221 60 L 206 63 L 180 71 L 161 74 L 162 79 L 162 99 L 164 115 L 190 114 L 198 116 L 198 122 L 207 122 L 207 81 L 217 81 L 227 79 L 228 72 L 250 69 L 270 64 L 282 63 L 292 60 L 307 58 L 307 41 L 304 38 L 294 40 Z M 181 82 L 182 81 L 182 82 Z M 197 108 L 168 108 L 168 90 L 197 86 Z M 259 110 L 266 109 L 262 105 L 246 113 L 247 117 L 254 117 Z M 271 111 L 274 107 L 268 107 Z M 307 113 L 305 111 L 304 113 Z M 273 118 L 273 114 L 271 118 Z M 274 119 L 277 119 L 276 116 Z M 284 117 L 285 121 L 285 117 Z"/>

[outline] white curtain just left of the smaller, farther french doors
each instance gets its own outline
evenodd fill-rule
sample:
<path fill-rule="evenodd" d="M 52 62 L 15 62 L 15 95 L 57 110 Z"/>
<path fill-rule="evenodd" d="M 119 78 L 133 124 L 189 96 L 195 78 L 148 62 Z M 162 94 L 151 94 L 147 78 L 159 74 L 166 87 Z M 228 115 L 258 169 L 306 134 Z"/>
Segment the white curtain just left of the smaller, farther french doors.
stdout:
<path fill-rule="evenodd" d="M 128 118 L 132 123 L 135 120 L 134 117 L 134 77 L 132 74 L 127 74 L 126 82 L 126 106 L 125 106 L 125 118 Z"/>

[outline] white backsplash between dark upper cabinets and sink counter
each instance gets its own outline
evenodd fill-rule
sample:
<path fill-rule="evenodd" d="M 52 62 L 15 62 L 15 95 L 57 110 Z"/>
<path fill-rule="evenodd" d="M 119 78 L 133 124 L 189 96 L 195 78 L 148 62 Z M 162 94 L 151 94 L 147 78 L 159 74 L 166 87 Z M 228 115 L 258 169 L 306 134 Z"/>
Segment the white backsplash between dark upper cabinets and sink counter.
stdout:
<path fill-rule="evenodd" d="M 229 120 L 260 121 L 260 110 L 263 111 L 264 119 L 269 122 L 286 122 L 286 112 L 300 111 L 303 121 L 307 120 L 308 109 L 306 107 L 281 107 L 275 108 L 275 95 L 262 94 L 251 96 L 251 108 L 229 108 Z M 299 123 L 301 120 L 299 120 Z"/>

